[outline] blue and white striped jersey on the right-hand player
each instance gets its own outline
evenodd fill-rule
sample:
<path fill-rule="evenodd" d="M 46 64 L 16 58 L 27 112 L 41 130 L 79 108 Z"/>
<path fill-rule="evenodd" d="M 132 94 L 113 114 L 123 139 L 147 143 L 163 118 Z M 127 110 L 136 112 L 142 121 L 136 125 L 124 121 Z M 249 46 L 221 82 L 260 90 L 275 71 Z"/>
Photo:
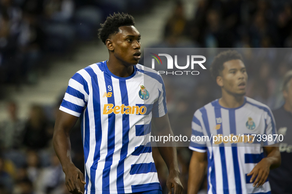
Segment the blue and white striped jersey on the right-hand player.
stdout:
<path fill-rule="evenodd" d="M 214 136 L 219 134 L 234 138 L 213 142 Z M 257 136 L 254 138 L 252 134 Z M 197 110 L 189 148 L 207 151 L 208 194 L 270 194 L 268 181 L 256 188 L 247 174 L 264 157 L 262 146 L 278 142 L 276 135 L 270 108 L 249 97 L 245 97 L 243 105 L 237 108 L 224 108 L 216 99 Z M 195 138 L 197 136 L 212 138 L 200 141 Z M 264 140 L 268 136 L 272 138 Z"/>

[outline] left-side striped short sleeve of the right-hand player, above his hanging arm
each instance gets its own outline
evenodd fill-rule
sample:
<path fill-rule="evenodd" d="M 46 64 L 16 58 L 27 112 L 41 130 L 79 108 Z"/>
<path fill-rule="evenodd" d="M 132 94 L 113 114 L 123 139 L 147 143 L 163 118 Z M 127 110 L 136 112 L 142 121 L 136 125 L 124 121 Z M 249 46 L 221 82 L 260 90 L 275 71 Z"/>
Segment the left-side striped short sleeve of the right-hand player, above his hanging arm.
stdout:
<path fill-rule="evenodd" d="M 206 136 L 204 136 L 203 128 L 199 118 L 202 118 L 202 114 L 200 110 L 197 110 L 192 120 L 192 135 L 190 139 L 189 149 L 196 152 L 206 152 Z"/>

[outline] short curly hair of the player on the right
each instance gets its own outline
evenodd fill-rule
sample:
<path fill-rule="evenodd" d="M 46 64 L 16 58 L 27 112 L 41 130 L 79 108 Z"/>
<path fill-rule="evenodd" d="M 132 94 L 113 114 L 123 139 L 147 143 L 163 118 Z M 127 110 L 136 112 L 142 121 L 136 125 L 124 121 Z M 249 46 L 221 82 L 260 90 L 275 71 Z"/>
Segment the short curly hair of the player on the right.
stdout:
<path fill-rule="evenodd" d="M 214 79 L 220 75 L 221 71 L 224 69 L 223 64 L 227 61 L 239 59 L 243 61 L 242 55 L 235 50 L 228 50 L 219 53 L 211 65 L 210 71 Z"/>

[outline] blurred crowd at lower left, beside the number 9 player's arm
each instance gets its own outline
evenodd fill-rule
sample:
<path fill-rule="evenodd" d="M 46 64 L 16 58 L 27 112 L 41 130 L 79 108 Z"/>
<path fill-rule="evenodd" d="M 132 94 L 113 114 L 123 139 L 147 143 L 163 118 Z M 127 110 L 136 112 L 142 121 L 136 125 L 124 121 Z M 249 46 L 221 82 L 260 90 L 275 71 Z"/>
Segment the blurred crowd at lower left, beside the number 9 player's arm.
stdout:
<path fill-rule="evenodd" d="M 17 103 L 8 102 L 9 119 L 0 123 L 0 194 L 68 194 L 52 147 L 58 107 L 32 105 L 28 119 L 22 120 Z M 79 123 L 72 130 L 71 142 L 73 162 L 84 171 Z"/>

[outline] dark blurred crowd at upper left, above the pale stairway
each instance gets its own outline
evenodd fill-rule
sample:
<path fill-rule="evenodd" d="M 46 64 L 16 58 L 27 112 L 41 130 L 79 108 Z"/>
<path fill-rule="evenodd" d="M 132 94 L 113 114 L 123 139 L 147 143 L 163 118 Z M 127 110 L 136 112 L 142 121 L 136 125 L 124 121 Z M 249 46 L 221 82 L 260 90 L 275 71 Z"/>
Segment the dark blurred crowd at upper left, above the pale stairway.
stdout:
<path fill-rule="evenodd" d="M 110 13 L 135 13 L 139 7 L 146 12 L 151 2 L 0 0 L 0 85 L 36 83 L 52 54 L 72 54 L 77 41 L 96 38 Z"/>

